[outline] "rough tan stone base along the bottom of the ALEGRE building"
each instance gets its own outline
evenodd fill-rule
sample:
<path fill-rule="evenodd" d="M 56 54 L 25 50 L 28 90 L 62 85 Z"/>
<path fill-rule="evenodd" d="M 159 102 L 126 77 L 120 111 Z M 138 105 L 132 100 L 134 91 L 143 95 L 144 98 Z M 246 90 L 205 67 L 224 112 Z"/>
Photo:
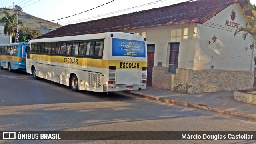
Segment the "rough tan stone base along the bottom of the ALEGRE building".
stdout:
<path fill-rule="evenodd" d="M 154 66 L 152 86 L 185 93 L 252 89 L 253 71 L 191 70 L 177 68 L 169 74 L 168 67 Z"/>

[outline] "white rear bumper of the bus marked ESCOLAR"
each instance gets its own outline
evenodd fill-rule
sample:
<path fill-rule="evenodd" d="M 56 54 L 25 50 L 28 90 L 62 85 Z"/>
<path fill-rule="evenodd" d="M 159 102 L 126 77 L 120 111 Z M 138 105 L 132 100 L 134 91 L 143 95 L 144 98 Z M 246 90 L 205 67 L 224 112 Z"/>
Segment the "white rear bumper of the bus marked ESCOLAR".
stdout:
<path fill-rule="evenodd" d="M 103 92 L 123 92 L 132 90 L 143 90 L 147 88 L 147 84 L 104 84 L 103 86 Z"/>

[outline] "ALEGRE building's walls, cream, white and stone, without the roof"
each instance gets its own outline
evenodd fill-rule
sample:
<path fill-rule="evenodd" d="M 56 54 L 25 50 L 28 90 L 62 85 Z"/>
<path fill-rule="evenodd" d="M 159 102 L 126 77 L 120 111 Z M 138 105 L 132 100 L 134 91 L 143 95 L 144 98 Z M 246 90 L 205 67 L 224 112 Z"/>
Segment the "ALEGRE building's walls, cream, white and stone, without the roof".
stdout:
<path fill-rule="evenodd" d="M 189 93 L 251 89 L 255 63 L 255 50 L 250 49 L 253 38 L 248 36 L 243 40 L 242 34 L 234 36 L 238 26 L 245 24 L 241 11 L 240 4 L 232 4 L 204 24 L 121 32 L 146 36 L 147 44 L 155 47 L 153 87 Z M 212 43 L 214 36 L 217 40 Z"/>

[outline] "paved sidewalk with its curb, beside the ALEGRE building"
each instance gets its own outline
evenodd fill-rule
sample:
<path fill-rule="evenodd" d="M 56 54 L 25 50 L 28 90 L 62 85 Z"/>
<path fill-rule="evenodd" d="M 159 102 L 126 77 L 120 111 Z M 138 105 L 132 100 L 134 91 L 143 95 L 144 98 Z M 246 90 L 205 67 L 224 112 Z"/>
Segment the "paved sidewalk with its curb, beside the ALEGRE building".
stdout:
<path fill-rule="evenodd" d="M 238 102 L 234 99 L 234 91 L 183 94 L 147 86 L 146 90 L 128 93 L 152 100 L 256 119 L 256 105 Z"/>

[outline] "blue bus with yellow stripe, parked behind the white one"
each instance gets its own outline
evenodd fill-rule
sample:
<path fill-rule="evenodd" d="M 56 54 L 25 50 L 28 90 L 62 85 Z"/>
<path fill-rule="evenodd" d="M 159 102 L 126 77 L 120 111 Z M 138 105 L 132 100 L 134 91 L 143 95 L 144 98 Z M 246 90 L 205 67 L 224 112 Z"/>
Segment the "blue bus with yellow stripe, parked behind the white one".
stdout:
<path fill-rule="evenodd" d="M 25 48 L 28 43 L 0 44 L 0 68 L 8 68 L 9 72 L 26 69 Z"/>

